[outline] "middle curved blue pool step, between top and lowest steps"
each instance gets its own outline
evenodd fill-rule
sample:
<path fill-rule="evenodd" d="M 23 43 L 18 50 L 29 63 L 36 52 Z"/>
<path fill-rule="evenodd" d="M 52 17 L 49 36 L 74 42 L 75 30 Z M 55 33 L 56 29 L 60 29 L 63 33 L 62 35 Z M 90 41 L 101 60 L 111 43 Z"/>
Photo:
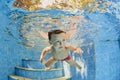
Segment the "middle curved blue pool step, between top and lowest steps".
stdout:
<path fill-rule="evenodd" d="M 62 68 L 53 68 L 51 70 L 45 71 L 45 69 L 33 69 L 24 67 L 15 67 L 15 74 L 18 76 L 23 76 L 32 79 L 52 79 L 63 76 Z"/>

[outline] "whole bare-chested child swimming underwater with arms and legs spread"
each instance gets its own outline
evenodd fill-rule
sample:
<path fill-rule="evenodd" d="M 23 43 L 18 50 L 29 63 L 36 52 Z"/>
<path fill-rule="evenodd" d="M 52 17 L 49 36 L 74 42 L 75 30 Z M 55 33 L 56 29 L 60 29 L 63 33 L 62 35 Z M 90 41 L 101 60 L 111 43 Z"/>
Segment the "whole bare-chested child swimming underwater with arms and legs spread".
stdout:
<path fill-rule="evenodd" d="M 70 50 L 73 50 L 77 53 L 83 53 L 82 49 L 76 46 L 72 46 L 66 43 L 66 32 L 62 30 L 52 30 L 48 32 L 48 39 L 50 46 L 43 49 L 40 61 L 44 62 L 44 56 L 50 51 L 51 57 L 46 61 L 45 66 L 46 70 L 52 68 L 52 65 L 56 61 L 66 61 L 68 64 L 75 66 L 81 69 L 81 66 L 76 63 L 71 56 L 69 55 Z"/>

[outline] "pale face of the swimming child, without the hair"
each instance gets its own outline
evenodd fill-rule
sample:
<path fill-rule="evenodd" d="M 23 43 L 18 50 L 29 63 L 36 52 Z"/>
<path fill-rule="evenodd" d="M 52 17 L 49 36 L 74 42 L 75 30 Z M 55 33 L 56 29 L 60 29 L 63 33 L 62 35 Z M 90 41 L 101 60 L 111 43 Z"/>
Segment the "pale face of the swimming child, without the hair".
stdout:
<path fill-rule="evenodd" d="M 66 34 L 65 33 L 52 34 L 50 42 L 56 50 L 63 49 L 65 48 Z"/>

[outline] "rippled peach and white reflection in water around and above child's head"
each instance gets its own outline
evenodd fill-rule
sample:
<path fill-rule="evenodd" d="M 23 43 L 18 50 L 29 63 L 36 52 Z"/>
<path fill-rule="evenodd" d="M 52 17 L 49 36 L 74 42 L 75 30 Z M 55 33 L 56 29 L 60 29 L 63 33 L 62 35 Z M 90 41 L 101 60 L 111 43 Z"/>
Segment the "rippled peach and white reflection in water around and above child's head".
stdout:
<path fill-rule="evenodd" d="M 96 7 L 92 5 L 96 5 Z M 111 1 L 103 1 L 90 4 L 88 5 L 89 8 L 86 6 L 83 9 L 73 11 L 42 10 L 24 13 L 24 10 L 23 12 L 18 10 L 12 11 L 9 17 L 13 21 L 11 23 L 16 22 L 18 25 L 16 27 L 20 32 L 21 38 L 24 40 L 18 43 L 24 46 L 35 47 L 37 50 L 41 50 L 43 47 L 49 45 L 49 43 L 39 32 L 43 31 L 47 33 L 52 29 L 63 29 L 67 31 L 71 35 L 68 40 L 71 44 L 74 43 L 75 45 L 85 46 L 88 45 L 87 40 L 93 40 L 99 29 L 102 28 L 101 24 L 98 25 L 92 22 L 85 14 L 95 11 L 99 11 L 99 13 L 103 14 L 109 12 L 120 19 L 119 5 L 119 2 L 116 4 Z M 38 43 L 42 44 L 39 45 Z"/>

